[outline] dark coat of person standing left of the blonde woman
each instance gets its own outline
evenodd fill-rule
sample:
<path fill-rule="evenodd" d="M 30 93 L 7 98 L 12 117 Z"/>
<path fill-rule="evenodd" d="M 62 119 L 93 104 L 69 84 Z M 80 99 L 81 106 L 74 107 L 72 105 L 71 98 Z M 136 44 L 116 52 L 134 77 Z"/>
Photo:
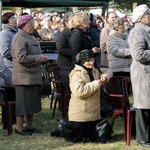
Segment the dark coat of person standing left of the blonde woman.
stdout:
<path fill-rule="evenodd" d="M 68 27 L 65 27 L 64 30 L 60 32 L 59 37 L 56 41 L 56 47 L 58 51 L 58 66 L 72 65 L 72 52 L 69 44 L 70 35 L 71 30 Z"/>

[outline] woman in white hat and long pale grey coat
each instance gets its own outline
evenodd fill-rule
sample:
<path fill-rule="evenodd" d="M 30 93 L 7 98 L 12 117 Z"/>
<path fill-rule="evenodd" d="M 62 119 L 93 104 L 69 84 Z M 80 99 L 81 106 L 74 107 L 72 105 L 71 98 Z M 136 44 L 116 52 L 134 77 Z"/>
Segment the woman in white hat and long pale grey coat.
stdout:
<path fill-rule="evenodd" d="M 136 139 L 150 147 L 150 8 L 143 4 L 132 14 L 135 27 L 129 34 L 129 45 L 133 62 L 131 81 L 134 107 L 136 108 Z"/>

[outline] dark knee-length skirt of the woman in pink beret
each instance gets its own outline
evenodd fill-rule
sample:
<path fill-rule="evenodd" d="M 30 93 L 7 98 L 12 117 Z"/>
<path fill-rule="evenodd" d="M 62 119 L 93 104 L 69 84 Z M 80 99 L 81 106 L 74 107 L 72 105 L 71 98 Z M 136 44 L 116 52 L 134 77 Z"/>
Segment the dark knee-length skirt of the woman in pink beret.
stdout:
<path fill-rule="evenodd" d="M 40 86 L 16 86 L 16 116 L 32 115 L 41 111 Z"/>

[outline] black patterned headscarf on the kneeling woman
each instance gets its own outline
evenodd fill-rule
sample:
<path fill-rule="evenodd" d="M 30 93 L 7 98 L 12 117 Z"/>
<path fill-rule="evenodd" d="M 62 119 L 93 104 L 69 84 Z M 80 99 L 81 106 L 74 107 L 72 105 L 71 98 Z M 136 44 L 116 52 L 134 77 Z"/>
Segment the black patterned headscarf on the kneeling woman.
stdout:
<path fill-rule="evenodd" d="M 94 58 L 94 54 L 90 49 L 82 50 L 76 55 L 76 61 L 79 65 L 83 65 L 87 60 L 91 58 Z"/>

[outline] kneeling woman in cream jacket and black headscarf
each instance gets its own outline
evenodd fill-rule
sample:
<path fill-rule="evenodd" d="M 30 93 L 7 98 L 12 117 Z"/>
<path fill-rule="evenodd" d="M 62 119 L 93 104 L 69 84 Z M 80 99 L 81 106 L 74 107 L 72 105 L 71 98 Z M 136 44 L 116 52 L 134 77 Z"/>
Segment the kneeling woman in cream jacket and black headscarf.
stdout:
<path fill-rule="evenodd" d="M 86 49 L 76 55 L 71 71 L 69 122 L 62 128 L 63 136 L 69 142 L 94 142 L 95 127 L 100 119 L 100 88 L 112 77 L 108 68 L 94 67 L 92 50 Z"/>

